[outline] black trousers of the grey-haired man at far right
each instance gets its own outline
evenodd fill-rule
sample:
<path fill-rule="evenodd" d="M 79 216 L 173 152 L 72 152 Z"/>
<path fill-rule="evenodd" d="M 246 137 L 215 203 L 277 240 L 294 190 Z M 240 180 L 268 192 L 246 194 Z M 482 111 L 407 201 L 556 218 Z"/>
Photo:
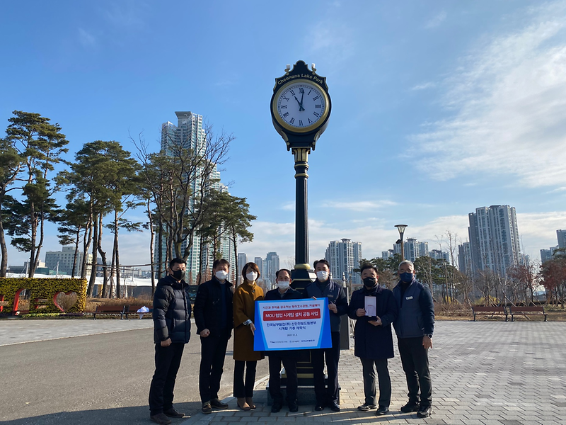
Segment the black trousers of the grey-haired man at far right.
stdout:
<path fill-rule="evenodd" d="M 428 348 L 422 346 L 422 336 L 398 338 L 399 355 L 407 377 L 409 402 L 432 405 L 432 380 L 429 371 Z M 420 401 L 419 401 L 420 392 Z"/>

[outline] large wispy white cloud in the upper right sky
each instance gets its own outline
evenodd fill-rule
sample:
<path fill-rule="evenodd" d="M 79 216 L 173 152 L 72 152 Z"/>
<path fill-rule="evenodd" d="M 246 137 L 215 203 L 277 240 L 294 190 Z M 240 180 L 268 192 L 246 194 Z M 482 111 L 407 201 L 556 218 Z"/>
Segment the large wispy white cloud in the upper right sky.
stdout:
<path fill-rule="evenodd" d="M 411 137 L 434 179 L 510 174 L 525 186 L 566 183 L 566 3 L 480 45 L 444 81 L 454 111 Z M 432 170 L 432 171 L 431 171 Z"/>

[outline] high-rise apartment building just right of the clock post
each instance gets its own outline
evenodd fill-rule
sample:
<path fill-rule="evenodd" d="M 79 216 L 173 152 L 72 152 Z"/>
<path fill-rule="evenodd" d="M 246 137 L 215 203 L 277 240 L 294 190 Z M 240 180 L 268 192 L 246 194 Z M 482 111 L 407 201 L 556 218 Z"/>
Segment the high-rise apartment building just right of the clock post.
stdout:
<path fill-rule="evenodd" d="M 354 268 L 359 268 L 359 261 L 362 259 L 360 242 L 352 242 L 350 239 L 330 241 L 324 258 L 330 263 L 330 273 L 335 279 L 342 279 L 343 276 L 355 285 L 362 284 L 359 273 L 354 272 Z"/>

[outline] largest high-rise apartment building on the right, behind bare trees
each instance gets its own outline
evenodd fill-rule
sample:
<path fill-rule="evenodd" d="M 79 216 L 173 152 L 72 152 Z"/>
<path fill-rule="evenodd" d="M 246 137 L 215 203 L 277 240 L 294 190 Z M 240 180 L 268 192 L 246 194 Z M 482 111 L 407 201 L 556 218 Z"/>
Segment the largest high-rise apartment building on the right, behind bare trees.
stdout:
<path fill-rule="evenodd" d="M 522 262 L 516 212 L 509 205 L 476 208 L 468 214 L 473 274 L 492 270 L 507 276 L 507 270 Z"/>

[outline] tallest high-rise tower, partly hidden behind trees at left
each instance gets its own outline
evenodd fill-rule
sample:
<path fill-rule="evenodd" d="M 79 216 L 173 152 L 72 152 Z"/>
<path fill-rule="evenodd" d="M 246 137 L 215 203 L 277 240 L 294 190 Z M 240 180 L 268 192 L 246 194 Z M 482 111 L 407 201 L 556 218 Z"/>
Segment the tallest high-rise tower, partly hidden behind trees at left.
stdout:
<path fill-rule="evenodd" d="M 207 146 L 206 135 L 204 129 L 202 128 L 202 115 L 192 113 L 190 111 L 177 111 L 178 123 L 174 125 L 173 123 L 167 122 L 161 125 L 161 153 L 168 156 L 173 156 L 182 152 L 180 149 L 190 149 L 194 154 L 204 154 L 204 150 Z M 202 179 L 198 178 L 199 173 L 202 175 L 202 169 L 197 167 L 194 171 L 193 176 L 191 176 L 191 188 L 192 193 L 200 193 Z M 220 183 L 220 173 L 217 171 L 216 166 L 209 175 L 206 182 L 206 188 L 214 188 L 217 191 L 227 191 L 228 188 Z M 194 202 L 190 203 L 190 208 L 194 208 Z M 210 277 L 210 272 L 212 270 L 212 263 L 214 263 L 214 249 L 212 244 L 205 244 L 201 247 L 201 238 L 198 234 L 192 241 L 192 246 L 190 248 L 190 254 L 187 258 L 187 282 L 196 283 L 199 271 L 203 273 L 202 281 Z M 165 258 L 166 246 L 162 244 L 163 258 Z M 186 241 L 183 242 L 181 246 L 181 251 L 184 251 L 186 247 Z M 238 271 L 234 269 L 236 264 L 236 256 L 234 255 L 233 245 L 228 236 L 222 236 L 219 240 L 219 246 L 217 246 L 218 251 L 221 253 L 222 258 L 226 259 L 230 263 L 231 279 L 238 276 Z M 158 255 L 158 241 L 156 241 L 156 256 Z M 157 257 L 156 257 L 157 259 Z"/>

